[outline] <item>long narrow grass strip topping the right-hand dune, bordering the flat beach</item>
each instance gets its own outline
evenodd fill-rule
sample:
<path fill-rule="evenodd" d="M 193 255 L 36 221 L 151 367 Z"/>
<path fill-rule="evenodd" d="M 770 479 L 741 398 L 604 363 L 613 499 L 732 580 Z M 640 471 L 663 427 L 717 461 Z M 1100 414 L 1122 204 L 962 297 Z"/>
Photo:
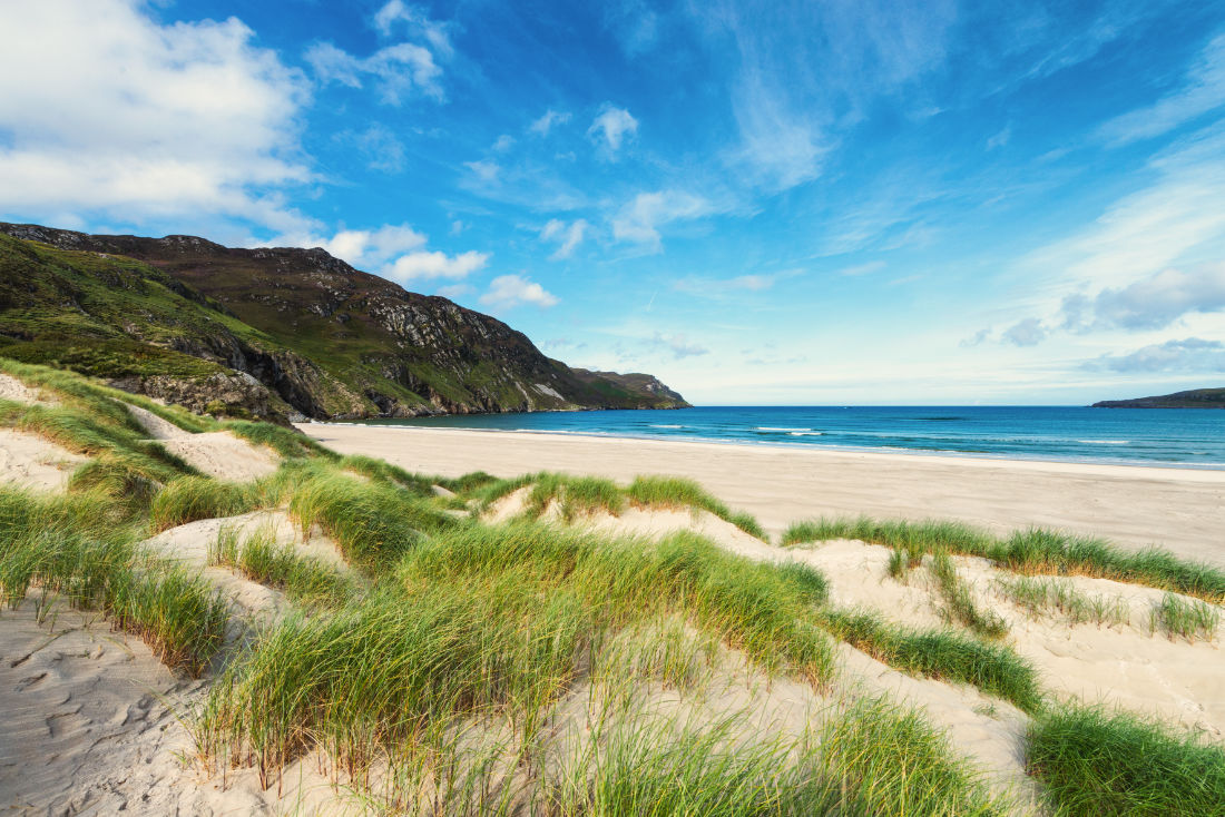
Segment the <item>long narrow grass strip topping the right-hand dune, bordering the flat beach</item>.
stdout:
<path fill-rule="evenodd" d="M 1193 595 L 1213 604 L 1225 601 L 1225 571 L 1210 565 L 1178 559 L 1156 548 L 1128 552 L 1101 539 L 1036 528 L 998 538 L 958 522 L 837 517 L 796 523 L 783 534 L 784 545 L 829 539 L 859 539 L 924 554 L 943 549 L 982 556 L 1019 573 L 1109 578 Z"/>

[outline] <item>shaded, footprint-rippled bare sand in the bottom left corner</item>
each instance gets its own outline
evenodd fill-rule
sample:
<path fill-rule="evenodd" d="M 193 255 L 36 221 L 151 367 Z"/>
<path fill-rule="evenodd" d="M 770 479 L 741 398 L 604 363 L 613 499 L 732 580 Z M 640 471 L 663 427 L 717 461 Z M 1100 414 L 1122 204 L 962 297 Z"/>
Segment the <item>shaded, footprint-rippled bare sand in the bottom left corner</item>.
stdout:
<path fill-rule="evenodd" d="M 359 813 L 307 758 L 265 791 L 252 770 L 206 780 L 176 717 L 202 682 L 176 679 L 138 638 L 60 603 L 0 611 L 0 812 L 21 815 Z"/>

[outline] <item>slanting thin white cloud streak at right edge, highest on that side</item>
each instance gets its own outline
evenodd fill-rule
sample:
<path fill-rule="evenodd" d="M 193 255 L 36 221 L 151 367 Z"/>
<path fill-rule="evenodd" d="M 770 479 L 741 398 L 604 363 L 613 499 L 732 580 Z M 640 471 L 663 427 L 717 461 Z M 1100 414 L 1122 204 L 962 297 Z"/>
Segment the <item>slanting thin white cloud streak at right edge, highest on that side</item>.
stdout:
<path fill-rule="evenodd" d="M 1177 91 L 1147 108 L 1117 116 L 1099 130 L 1110 145 L 1152 138 L 1225 105 L 1225 34 L 1199 54 Z"/>

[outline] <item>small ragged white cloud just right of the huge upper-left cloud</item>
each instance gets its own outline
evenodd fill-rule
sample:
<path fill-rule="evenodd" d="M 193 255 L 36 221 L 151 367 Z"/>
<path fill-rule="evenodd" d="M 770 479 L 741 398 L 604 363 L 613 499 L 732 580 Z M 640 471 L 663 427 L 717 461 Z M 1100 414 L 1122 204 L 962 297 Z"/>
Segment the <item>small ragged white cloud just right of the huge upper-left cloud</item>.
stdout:
<path fill-rule="evenodd" d="M 428 48 L 414 43 L 388 45 L 366 58 L 354 56 L 332 43 L 315 43 L 306 49 L 305 58 L 323 85 L 338 82 L 361 88 L 368 77 L 372 78 L 388 105 L 402 104 L 414 92 L 440 102 L 445 98 L 439 83 L 442 69 Z"/>

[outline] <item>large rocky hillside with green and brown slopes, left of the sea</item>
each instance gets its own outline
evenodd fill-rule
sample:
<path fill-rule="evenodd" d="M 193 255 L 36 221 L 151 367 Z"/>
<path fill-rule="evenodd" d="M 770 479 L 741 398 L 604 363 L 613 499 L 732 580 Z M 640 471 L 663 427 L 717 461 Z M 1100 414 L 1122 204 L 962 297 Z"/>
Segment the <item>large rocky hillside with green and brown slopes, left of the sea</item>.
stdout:
<path fill-rule="evenodd" d="M 174 402 L 200 403 L 201 382 L 228 377 L 266 387 L 271 414 L 321 419 L 686 405 L 649 375 L 576 372 L 501 321 L 320 249 L 18 224 L 0 234 L 12 236 L 0 238 L 0 354 Z"/>

